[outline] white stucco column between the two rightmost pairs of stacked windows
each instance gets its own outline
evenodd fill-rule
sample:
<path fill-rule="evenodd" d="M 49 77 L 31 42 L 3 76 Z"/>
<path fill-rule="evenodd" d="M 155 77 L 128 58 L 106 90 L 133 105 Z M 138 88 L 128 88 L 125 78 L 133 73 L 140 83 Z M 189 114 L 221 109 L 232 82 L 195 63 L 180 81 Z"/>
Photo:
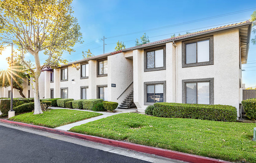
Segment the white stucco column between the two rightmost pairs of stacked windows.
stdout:
<path fill-rule="evenodd" d="M 166 43 L 166 102 L 176 102 L 176 47 Z"/>

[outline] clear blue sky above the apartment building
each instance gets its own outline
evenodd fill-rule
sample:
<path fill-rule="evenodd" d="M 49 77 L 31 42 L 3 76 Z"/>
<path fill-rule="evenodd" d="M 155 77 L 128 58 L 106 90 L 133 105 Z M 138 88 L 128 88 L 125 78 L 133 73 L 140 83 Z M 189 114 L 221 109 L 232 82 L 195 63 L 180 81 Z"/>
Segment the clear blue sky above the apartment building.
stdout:
<path fill-rule="evenodd" d="M 107 38 L 105 40 L 107 44 L 105 45 L 105 53 L 108 53 L 115 50 L 118 40 L 124 42 L 126 48 L 134 46 L 136 38 L 140 38 L 148 29 L 181 24 L 147 31 L 146 34 L 149 36 L 150 42 L 154 42 L 170 38 L 172 33 L 185 34 L 185 31 L 196 32 L 232 24 L 232 22 L 242 22 L 248 20 L 253 11 L 243 12 L 241 10 L 256 9 L 255 0 L 247 0 L 243 3 L 238 0 L 74 0 L 72 5 L 75 17 L 81 27 L 84 43 L 75 45 L 76 52 L 71 55 L 63 54 L 63 58 L 69 61 L 82 59 L 81 52 L 88 49 L 94 55 L 102 54 L 103 42 L 96 40 L 103 38 L 103 36 Z M 236 11 L 241 12 L 234 14 L 233 12 Z M 227 13 L 231 14 L 184 24 L 184 22 Z M 141 32 L 135 33 L 139 31 Z M 118 36 L 128 33 L 135 34 Z M 41 56 L 41 58 L 45 57 Z M 256 66 L 256 45 L 252 45 L 252 43 L 250 44 L 247 63 L 251 64 L 243 65 L 243 67 L 251 68 L 245 68 L 246 71 L 243 71 L 243 83 L 246 84 L 246 87 L 255 87 L 256 71 L 250 71 L 256 70 L 256 67 L 253 67 Z M 0 69 L 4 69 L 4 63 L 1 65 Z"/>

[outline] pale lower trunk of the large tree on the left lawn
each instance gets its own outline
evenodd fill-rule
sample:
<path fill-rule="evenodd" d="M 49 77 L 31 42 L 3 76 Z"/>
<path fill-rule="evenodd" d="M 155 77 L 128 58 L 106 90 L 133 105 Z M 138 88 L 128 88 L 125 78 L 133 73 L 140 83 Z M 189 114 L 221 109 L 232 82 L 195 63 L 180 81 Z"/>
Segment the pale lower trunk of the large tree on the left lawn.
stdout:
<path fill-rule="evenodd" d="M 39 74 L 40 75 L 40 74 Z M 35 102 L 35 111 L 34 114 L 42 114 L 42 109 L 40 105 L 40 98 L 39 98 L 39 87 L 38 87 L 38 78 L 39 75 L 35 75 L 34 77 L 34 85 L 33 85 L 33 91 L 34 91 L 34 102 Z"/>

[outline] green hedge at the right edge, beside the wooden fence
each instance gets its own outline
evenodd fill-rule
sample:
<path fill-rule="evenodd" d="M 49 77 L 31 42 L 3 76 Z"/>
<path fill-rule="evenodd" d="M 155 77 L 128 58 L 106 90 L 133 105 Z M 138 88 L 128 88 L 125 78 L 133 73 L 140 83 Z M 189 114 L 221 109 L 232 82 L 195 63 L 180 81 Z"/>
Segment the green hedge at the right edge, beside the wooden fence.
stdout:
<path fill-rule="evenodd" d="M 256 98 L 243 100 L 242 105 L 247 117 L 256 120 Z"/>

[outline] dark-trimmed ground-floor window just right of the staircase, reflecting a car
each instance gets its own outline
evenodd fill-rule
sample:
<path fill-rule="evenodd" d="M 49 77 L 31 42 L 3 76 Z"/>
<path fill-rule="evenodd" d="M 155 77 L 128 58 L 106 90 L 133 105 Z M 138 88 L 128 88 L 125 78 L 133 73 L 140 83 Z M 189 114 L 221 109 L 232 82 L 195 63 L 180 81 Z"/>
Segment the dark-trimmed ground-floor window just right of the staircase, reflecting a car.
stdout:
<path fill-rule="evenodd" d="M 144 105 L 166 102 L 166 81 L 144 82 Z"/>

